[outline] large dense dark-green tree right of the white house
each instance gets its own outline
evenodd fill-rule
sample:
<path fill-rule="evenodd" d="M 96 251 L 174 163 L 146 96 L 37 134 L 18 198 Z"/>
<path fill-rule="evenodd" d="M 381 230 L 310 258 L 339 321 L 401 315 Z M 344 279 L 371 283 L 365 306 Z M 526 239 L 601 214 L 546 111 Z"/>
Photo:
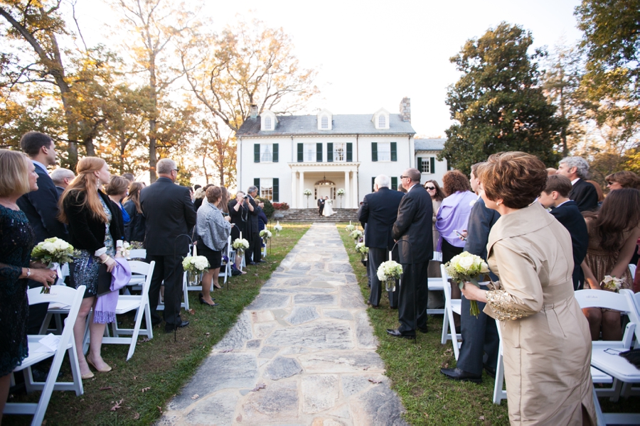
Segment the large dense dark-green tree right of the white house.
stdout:
<path fill-rule="evenodd" d="M 451 58 L 462 76 L 447 91 L 455 123 L 440 159 L 465 173 L 499 151 L 524 151 L 555 164 L 560 125 L 540 87 L 537 60 L 544 53 L 529 54 L 532 43 L 530 32 L 503 22 L 467 40 Z"/>

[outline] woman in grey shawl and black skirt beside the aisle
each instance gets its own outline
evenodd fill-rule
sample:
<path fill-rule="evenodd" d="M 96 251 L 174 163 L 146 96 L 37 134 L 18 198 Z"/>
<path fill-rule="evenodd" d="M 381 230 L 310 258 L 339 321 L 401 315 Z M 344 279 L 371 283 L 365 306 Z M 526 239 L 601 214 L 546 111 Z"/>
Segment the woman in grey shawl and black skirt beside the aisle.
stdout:
<path fill-rule="evenodd" d="M 212 186 L 207 190 L 207 203 L 203 203 L 198 209 L 196 231 L 198 233 L 198 253 L 209 261 L 209 269 L 202 275 L 202 293 L 200 302 L 203 305 L 218 306 L 211 299 L 211 284 L 220 288 L 218 274 L 222 263 L 222 250 L 227 245 L 227 239 L 231 233 L 231 218 L 223 216 L 218 203 L 222 197 L 219 187 Z M 202 243 L 202 244 L 201 244 Z"/>

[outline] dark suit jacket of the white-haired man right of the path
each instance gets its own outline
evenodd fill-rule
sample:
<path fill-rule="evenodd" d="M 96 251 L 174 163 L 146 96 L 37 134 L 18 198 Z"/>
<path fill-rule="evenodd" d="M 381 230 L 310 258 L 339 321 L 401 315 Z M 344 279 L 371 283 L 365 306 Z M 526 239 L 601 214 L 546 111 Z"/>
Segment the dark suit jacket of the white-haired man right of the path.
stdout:
<path fill-rule="evenodd" d="M 398 207 L 403 196 L 402 192 L 388 187 L 381 187 L 378 192 L 365 195 L 358 210 L 358 221 L 365 229 L 367 247 L 391 250 L 394 244 L 391 229 L 398 219 Z"/>

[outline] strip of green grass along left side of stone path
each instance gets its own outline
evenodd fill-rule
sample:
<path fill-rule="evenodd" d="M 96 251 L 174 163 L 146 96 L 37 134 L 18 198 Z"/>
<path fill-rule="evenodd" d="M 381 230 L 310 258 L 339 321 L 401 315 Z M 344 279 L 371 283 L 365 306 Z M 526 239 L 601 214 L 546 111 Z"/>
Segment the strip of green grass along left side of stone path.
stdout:
<path fill-rule="evenodd" d="M 166 403 L 186 384 L 196 368 L 208 356 L 213 345 L 235 324 L 279 265 L 297 244 L 310 224 L 282 223 L 284 229 L 268 244 L 267 263 L 249 266 L 246 275 L 230 279 L 229 289 L 215 290 L 218 307 L 206 307 L 198 301 L 198 292 L 189 292 L 190 312 L 182 312 L 188 327 L 166 334 L 164 325 L 154 328 L 154 338 L 140 339 L 129 362 L 128 345 L 102 346 L 102 357 L 112 366 L 110 373 L 95 373 L 84 381 L 85 393 L 54 391 L 45 416 L 47 425 L 149 425 L 157 420 Z M 222 283 L 222 280 L 220 280 Z M 133 320 L 133 315 L 124 321 Z M 63 374 L 70 378 L 68 361 Z M 36 402 L 39 392 L 18 394 L 16 402 Z M 28 425 L 30 415 L 5 415 L 4 425 Z"/>

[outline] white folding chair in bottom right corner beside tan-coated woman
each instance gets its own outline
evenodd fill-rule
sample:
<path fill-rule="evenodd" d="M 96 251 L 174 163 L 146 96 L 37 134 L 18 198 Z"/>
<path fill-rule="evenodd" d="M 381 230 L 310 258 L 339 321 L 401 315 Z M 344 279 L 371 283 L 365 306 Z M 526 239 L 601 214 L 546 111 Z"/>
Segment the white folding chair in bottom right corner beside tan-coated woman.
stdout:
<path fill-rule="evenodd" d="M 625 295 L 625 290 L 622 290 L 622 294 L 604 290 L 578 290 L 575 292 L 575 298 L 583 309 L 585 307 L 603 307 L 629 315 L 631 322 L 626 324 L 621 341 L 592 342 L 591 366 L 614 379 L 612 388 L 594 389 L 594 404 L 598 419 L 603 424 L 640 424 L 640 414 L 602 413 L 597 398 L 609 396 L 610 400 L 615 402 L 622 393 L 623 383 L 640 383 L 640 371 L 638 368 L 626 361 L 622 356 L 618 356 L 619 352 L 631 348 L 631 340 L 636 329 L 636 323 L 633 322 L 634 310 L 636 309 L 634 304 L 630 301 L 629 295 Z"/>

